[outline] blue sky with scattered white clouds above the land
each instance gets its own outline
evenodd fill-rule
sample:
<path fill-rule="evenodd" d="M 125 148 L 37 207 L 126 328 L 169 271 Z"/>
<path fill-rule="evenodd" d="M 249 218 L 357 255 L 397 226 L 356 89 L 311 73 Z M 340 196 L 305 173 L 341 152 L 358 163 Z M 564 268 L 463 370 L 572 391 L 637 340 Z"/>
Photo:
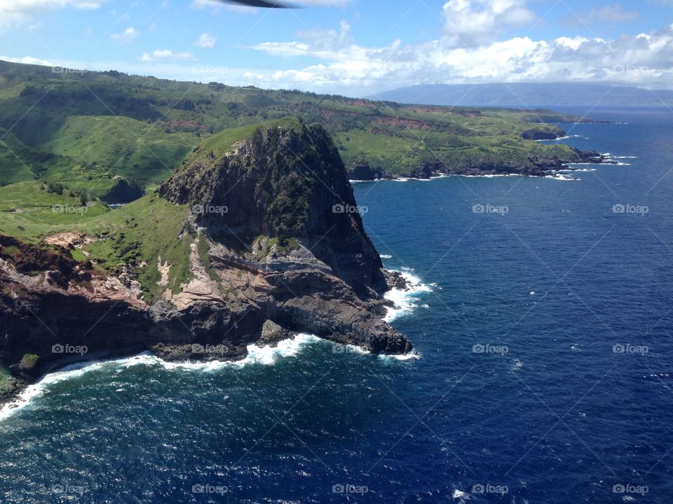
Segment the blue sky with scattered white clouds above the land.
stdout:
<path fill-rule="evenodd" d="M 349 96 L 405 85 L 673 89 L 673 0 L 0 0 L 0 59 Z"/>

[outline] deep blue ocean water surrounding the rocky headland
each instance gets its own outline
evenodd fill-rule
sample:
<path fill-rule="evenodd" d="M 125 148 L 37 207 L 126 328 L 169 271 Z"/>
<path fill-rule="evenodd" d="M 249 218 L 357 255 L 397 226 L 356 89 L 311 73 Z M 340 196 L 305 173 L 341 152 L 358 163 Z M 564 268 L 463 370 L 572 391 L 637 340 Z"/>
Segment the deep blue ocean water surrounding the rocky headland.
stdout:
<path fill-rule="evenodd" d="M 0 421 L 0 502 L 673 503 L 673 111 L 589 116 L 630 165 L 355 184 L 422 358 L 70 372 Z"/>

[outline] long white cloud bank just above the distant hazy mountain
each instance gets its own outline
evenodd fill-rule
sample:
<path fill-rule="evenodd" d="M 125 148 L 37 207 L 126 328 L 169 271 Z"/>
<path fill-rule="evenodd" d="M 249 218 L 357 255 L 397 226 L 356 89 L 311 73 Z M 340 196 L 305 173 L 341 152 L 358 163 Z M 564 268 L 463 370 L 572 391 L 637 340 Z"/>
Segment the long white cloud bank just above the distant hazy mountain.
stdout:
<path fill-rule="evenodd" d="M 423 83 L 578 81 L 673 88 L 673 26 L 614 40 L 564 36 L 545 41 L 523 36 L 460 47 L 449 37 L 421 45 L 395 41 L 381 48 L 351 43 L 326 49 L 297 41 L 252 48 L 320 61 L 248 73 L 252 83 L 269 87 L 360 93 Z"/>

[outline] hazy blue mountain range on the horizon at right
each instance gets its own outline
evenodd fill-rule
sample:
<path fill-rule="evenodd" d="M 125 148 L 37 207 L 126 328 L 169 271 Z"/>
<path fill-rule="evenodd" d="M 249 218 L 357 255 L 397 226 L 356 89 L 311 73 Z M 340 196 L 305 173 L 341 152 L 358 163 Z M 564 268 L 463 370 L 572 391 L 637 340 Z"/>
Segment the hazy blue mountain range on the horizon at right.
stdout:
<path fill-rule="evenodd" d="M 672 106 L 673 91 L 602 84 L 433 84 L 399 87 L 369 99 L 405 104 L 504 106 Z"/>

